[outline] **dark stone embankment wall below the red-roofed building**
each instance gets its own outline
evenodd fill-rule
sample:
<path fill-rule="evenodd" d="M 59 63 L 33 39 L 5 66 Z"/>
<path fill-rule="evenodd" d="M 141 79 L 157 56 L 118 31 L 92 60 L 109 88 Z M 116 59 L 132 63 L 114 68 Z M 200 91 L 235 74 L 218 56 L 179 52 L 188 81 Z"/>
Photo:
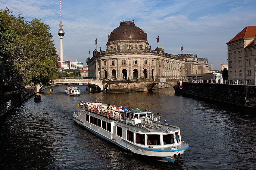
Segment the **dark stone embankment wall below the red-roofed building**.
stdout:
<path fill-rule="evenodd" d="M 183 82 L 175 92 L 256 108 L 256 86 Z"/>

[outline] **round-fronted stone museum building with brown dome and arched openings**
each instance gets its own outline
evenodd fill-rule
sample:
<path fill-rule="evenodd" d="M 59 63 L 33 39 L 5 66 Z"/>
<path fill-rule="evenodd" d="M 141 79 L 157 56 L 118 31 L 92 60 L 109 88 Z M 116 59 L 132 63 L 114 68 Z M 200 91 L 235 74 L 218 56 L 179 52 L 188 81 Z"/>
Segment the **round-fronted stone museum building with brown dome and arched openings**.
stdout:
<path fill-rule="evenodd" d="M 199 74 L 200 61 L 196 55 L 194 60 L 186 63 L 186 55 L 167 54 L 164 49 L 158 47 L 152 50 L 147 32 L 135 26 L 134 21 L 120 21 L 119 27 L 108 34 L 106 48 L 106 51 L 100 48 L 99 52 L 95 49 L 92 58 L 87 58 L 89 78 L 185 78 L 195 71 Z M 207 58 L 203 60 L 202 73 L 206 72 L 208 67 Z"/>

